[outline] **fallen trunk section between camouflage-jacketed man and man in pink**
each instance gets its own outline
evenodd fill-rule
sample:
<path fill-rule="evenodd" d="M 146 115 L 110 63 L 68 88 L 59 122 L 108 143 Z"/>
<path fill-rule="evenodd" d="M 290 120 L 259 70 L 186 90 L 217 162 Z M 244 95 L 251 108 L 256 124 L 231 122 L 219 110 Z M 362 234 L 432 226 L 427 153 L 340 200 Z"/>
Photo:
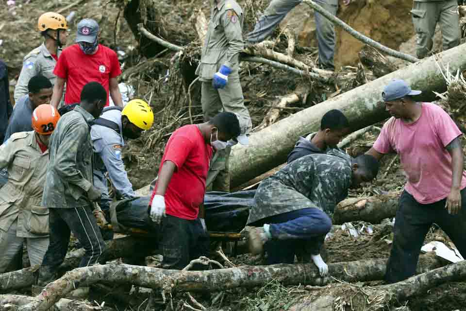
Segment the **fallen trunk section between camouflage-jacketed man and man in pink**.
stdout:
<path fill-rule="evenodd" d="M 385 218 L 395 217 L 401 192 L 343 200 L 335 208 L 333 224 L 341 225 L 361 220 L 378 224 Z"/>

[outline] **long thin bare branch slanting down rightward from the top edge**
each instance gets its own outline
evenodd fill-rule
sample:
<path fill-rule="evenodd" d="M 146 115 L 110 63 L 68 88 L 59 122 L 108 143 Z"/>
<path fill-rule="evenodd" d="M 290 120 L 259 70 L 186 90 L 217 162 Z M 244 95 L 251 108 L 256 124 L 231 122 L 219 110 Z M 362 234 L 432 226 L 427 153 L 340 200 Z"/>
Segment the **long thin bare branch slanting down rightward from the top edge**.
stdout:
<path fill-rule="evenodd" d="M 344 21 L 342 21 L 338 17 L 333 16 L 331 13 L 329 13 L 327 10 L 325 10 L 323 7 L 321 7 L 320 5 L 315 3 L 314 1 L 312 1 L 312 0 L 302 0 L 302 2 L 308 4 L 314 10 L 316 10 L 317 12 L 319 12 L 320 14 L 325 16 L 327 19 L 332 21 L 334 24 L 337 24 L 338 26 L 343 28 L 346 32 L 348 32 L 350 35 L 352 35 L 353 37 L 355 37 L 359 41 L 362 41 L 362 42 L 370 45 L 371 47 L 374 47 L 377 50 L 382 51 L 382 52 L 384 52 L 384 53 L 386 53 L 388 55 L 391 55 L 393 57 L 400 58 L 400 59 L 406 60 L 406 61 L 411 62 L 411 63 L 416 63 L 417 61 L 419 61 L 419 59 L 414 57 L 414 56 L 411 56 L 409 54 L 405 54 L 405 53 L 402 53 L 402 52 L 399 52 L 399 51 L 392 50 L 392 49 L 387 48 L 386 46 L 380 44 L 379 42 L 374 41 L 369 37 L 366 37 L 365 35 L 363 35 L 360 32 L 354 30 L 353 28 L 351 28 L 347 23 L 345 23 Z"/>

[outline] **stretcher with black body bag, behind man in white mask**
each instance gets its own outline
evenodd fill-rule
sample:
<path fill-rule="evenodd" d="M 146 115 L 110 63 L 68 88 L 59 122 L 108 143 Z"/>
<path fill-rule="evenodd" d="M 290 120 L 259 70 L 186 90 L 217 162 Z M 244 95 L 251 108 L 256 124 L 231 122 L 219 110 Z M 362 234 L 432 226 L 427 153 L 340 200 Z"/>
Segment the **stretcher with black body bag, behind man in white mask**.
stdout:
<path fill-rule="evenodd" d="M 204 196 L 205 223 L 211 241 L 234 242 L 242 239 L 249 210 L 255 205 L 255 190 L 207 192 Z M 114 232 L 156 237 L 159 225 L 149 215 L 150 196 L 115 201 L 110 205 L 111 223 L 103 225 Z M 102 226 L 102 225 L 101 225 Z"/>

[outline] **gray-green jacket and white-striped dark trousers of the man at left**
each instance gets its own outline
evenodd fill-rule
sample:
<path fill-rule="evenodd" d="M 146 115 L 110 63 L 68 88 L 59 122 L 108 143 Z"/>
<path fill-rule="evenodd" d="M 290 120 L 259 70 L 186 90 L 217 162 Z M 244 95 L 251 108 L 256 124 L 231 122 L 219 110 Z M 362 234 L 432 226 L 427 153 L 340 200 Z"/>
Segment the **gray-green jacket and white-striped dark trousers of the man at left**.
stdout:
<path fill-rule="evenodd" d="M 92 187 L 92 141 L 88 123 L 94 117 L 77 105 L 57 123 L 50 137 L 42 206 L 50 209 L 50 245 L 39 283 L 53 278 L 67 254 L 70 232 L 85 249 L 80 267 L 99 260 L 105 247 L 87 191 Z"/>

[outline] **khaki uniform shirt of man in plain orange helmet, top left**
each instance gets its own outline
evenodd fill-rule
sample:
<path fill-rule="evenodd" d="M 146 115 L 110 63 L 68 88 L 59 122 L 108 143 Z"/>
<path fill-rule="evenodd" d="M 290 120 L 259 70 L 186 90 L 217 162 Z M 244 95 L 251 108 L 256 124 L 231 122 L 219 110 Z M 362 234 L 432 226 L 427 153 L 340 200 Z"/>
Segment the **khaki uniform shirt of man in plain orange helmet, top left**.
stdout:
<path fill-rule="evenodd" d="M 58 49 L 57 56 L 60 56 L 62 49 Z M 28 83 L 31 78 L 37 74 L 42 74 L 50 80 L 52 86 L 55 85 L 57 76 L 53 74 L 53 69 L 57 61 L 50 55 L 49 50 L 45 47 L 45 43 L 29 52 L 23 59 L 23 67 L 19 73 L 18 82 L 15 86 L 15 103 L 24 95 L 29 93 Z M 65 89 L 63 90 L 65 94 Z M 63 105 L 63 100 L 59 107 Z"/>

